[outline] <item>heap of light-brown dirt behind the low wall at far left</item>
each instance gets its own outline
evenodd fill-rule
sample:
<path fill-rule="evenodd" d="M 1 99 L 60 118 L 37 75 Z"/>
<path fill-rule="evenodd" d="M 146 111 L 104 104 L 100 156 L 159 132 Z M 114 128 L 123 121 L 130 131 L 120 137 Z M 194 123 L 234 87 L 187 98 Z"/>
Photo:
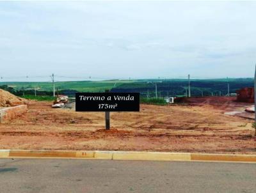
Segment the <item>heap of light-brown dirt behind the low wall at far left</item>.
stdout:
<path fill-rule="evenodd" d="M 15 96 L 8 91 L 0 89 L 0 107 L 12 107 L 21 104 L 27 104 L 28 100 Z"/>

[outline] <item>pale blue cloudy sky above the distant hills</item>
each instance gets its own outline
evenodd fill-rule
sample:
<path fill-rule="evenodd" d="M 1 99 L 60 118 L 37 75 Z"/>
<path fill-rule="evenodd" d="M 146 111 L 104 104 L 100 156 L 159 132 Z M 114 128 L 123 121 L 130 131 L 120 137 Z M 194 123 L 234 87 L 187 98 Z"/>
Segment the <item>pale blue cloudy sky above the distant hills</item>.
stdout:
<path fill-rule="evenodd" d="M 0 2 L 0 77 L 253 77 L 255 10 L 237 1 Z"/>

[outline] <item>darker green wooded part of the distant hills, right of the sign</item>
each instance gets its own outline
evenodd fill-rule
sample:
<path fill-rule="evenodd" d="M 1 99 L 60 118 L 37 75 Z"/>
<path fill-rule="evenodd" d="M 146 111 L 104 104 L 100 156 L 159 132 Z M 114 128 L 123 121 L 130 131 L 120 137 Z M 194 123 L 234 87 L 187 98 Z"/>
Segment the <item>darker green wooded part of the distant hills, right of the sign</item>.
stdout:
<path fill-rule="evenodd" d="M 150 83 L 152 82 L 152 83 Z M 140 82 L 131 82 L 120 84 L 112 88 L 113 92 L 140 92 L 142 96 L 155 96 L 155 86 L 157 84 L 157 96 L 185 96 L 188 89 L 188 80 L 185 79 L 155 79 L 140 80 Z M 236 93 L 238 89 L 244 87 L 253 87 L 253 79 L 193 79 L 191 80 L 191 96 L 218 96 L 227 95 L 228 84 L 230 93 Z"/>

